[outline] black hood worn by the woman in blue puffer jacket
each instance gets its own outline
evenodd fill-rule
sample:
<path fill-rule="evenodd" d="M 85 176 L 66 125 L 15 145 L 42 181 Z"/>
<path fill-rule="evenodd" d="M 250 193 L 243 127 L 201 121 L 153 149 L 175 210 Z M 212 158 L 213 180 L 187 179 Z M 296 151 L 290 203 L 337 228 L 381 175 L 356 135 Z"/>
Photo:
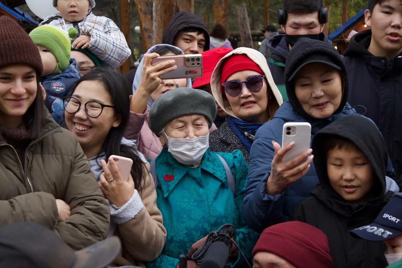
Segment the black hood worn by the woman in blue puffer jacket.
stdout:
<path fill-rule="evenodd" d="M 289 82 L 289 78 L 291 77 L 293 72 L 300 66 L 300 62 L 306 60 L 306 58 L 312 55 L 325 55 L 330 58 L 333 64 L 341 68 L 340 73 L 343 76 L 343 83 L 345 85 L 345 88 L 343 91 L 341 103 L 334 114 L 343 111 L 347 103 L 347 97 L 349 93 L 348 72 L 345 64 L 343 63 L 342 56 L 338 53 L 338 51 L 334 47 L 332 47 L 332 45 L 323 41 L 308 38 L 299 39 L 299 41 L 297 41 L 292 47 L 286 58 L 285 85 L 287 97 L 289 98 L 289 102 L 292 105 L 293 109 L 308 120 L 314 120 L 314 118 L 306 113 L 306 111 L 304 111 L 304 109 L 301 107 L 295 94 L 294 82 Z"/>

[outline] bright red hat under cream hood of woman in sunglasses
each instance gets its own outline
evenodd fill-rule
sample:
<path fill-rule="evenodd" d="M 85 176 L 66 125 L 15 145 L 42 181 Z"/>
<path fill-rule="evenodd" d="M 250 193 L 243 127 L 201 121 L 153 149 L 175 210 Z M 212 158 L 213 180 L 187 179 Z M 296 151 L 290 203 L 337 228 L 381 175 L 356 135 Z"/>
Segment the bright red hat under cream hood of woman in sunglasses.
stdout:
<path fill-rule="evenodd" d="M 264 75 L 264 72 L 261 70 L 260 66 L 248 58 L 246 54 L 234 54 L 222 64 L 221 85 L 226 82 L 226 80 L 232 74 L 245 70 L 255 71 Z M 221 91 L 223 94 L 224 87 L 221 87 Z"/>

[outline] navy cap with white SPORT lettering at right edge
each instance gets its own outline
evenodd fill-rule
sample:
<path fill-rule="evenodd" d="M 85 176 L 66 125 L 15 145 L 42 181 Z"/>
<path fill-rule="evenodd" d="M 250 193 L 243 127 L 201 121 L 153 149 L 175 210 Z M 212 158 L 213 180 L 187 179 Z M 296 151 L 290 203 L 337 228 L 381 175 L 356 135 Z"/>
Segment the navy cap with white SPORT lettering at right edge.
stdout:
<path fill-rule="evenodd" d="M 402 235 L 402 193 L 396 193 L 373 223 L 359 227 L 350 234 L 369 241 L 383 241 Z"/>

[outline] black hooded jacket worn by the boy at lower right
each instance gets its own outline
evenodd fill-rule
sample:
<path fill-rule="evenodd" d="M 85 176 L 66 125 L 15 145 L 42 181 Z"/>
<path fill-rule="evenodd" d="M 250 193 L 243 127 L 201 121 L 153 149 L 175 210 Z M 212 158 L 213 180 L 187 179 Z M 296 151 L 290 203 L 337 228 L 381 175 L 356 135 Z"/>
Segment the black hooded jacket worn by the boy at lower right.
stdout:
<path fill-rule="evenodd" d="M 375 198 L 363 204 L 350 204 L 331 187 L 326 168 L 326 153 L 322 148 L 328 135 L 351 140 L 365 154 L 373 167 Z M 357 239 L 349 230 L 371 223 L 394 192 L 388 191 L 386 145 L 376 126 L 362 116 L 340 118 L 319 131 L 313 139 L 314 166 L 320 181 L 293 212 L 293 219 L 313 225 L 328 237 L 334 268 L 385 267 L 382 241 Z M 391 181 L 391 180 L 389 180 Z"/>

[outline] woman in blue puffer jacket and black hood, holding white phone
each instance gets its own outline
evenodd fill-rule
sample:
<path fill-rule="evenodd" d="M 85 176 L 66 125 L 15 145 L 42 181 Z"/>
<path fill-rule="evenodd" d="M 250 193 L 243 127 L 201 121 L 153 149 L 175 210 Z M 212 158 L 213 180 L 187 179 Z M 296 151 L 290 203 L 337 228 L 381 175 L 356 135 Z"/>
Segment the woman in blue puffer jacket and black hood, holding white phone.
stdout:
<path fill-rule="evenodd" d="M 258 232 L 287 221 L 318 183 L 312 150 L 282 161 L 293 146 L 281 148 L 283 125 L 310 123 L 312 140 L 333 121 L 356 113 L 347 103 L 348 77 L 342 57 L 322 41 L 303 38 L 292 47 L 286 59 L 285 85 L 289 100 L 279 107 L 273 120 L 258 129 L 250 150 L 243 216 Z M 393 171 L 388 163 L 387 170 Z"/>

